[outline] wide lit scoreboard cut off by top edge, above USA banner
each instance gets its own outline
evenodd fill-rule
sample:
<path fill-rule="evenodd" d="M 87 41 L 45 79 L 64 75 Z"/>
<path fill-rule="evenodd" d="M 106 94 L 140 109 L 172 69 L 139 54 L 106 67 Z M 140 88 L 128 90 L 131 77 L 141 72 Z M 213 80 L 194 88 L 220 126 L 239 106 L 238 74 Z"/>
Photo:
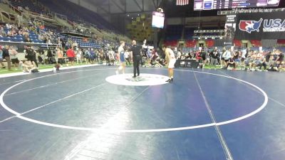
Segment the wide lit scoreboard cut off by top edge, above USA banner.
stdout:
<path fill-rule="evenodd" d="M 194 10 L 239 9 L 278 6 L 281 0 L 194 0 Z"/>

